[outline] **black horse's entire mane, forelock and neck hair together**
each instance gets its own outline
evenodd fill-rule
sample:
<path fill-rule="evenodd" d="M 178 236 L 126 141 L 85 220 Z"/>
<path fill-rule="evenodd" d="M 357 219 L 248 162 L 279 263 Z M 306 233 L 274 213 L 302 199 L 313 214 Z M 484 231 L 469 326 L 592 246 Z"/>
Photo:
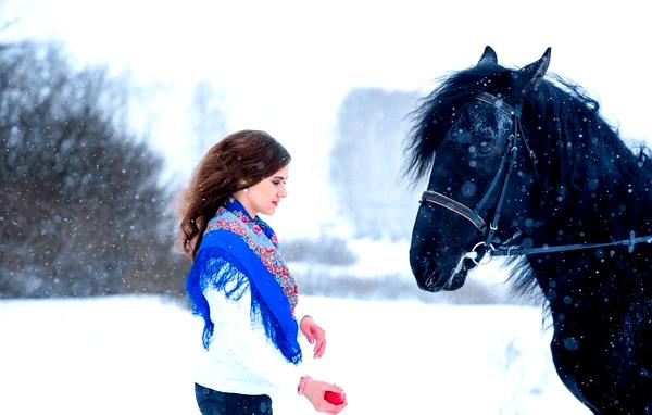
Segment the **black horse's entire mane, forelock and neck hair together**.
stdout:
<path fill-rule="evenodd" d="M 411 114 L 414 126 L 408 138 L 403 165 L 404 174 L 413 185 L 429 173 L 436 149 L 447 136 L 456 112 L 476 95 L 486 91 L 510 104 L 519 101 L 510 88 L 516 71 L 499 65 L 479 65 L 455 72 L 442 78 L 432 92 L 419 100 Z M 637 229 L 640 228 L 640 218 L 649 216 L 645 209 L 650 204 L 641 206 L 639 202 L 641 198 L 652 200 L 651 150 L 644 144 L 639 144 L 635 151 L 628 148 L 619 133 L 600 115 L 598 101 L 577 84 L 557 75 L 547 75 L 537 92 L 524 97 L 522 102 L 524 134 L 534 144 L 539 160 L 539 206 L 543 212 L 554 205 L 557 212 L 556 216 L 547 219 L 556 225 L 555 221 L 563 223 L 568 217 L 605 214 L 605 211 L 595 212 L 594 204 L 582 203 L 594 200 L 599 192 L 609 194 L 601 209 L 619 210 L 618 219 L 623 226 L 635 227 L 638 223 Z M 535 137 L 539 139 L 532 141 Z M 626 188 L 625 184 L 629 187 Z M 620 205 L 614 208 L 614 203 Z M 649 222 L 648 227 L 652 234 Z M 599 235 L 599 231 L 587 235 L 587 239 L 602 238 L 601 241 L 620 237 L 626 238 L 627 235 L 612 237 Z M 576 243 L 582 241 L 597 240 L 577 240 Z M 512 265 L 509 280 L 516 293 L 529 295 L 539 292 L 525 257 L 511 257 L 506 263 Z"/>

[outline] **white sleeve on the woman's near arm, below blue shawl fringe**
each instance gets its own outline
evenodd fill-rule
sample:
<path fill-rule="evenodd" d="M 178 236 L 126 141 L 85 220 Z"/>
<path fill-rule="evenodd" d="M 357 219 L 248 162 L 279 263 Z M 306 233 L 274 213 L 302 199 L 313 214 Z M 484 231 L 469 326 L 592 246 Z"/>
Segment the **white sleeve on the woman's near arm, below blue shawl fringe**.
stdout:
<path fill-rule="evenodd" d="M 271 385 L 296 387 L 301 378 L 300 368 L 288 362 L 280 351 L 267 339 L 262 323 L 251 316 L 251 290 L 244 276 L 237 295 L 227 298 L 222 290 L 208 287 L 204 297 L 209 302 L 211 320 L 215 325 L 214 336 L 226 341 L 238 363 L 249 372 L 266 379 Z M 230 285 L 230 287 L 229 287 Z M 237 285 L 227 282 L 228 292 Z"/>

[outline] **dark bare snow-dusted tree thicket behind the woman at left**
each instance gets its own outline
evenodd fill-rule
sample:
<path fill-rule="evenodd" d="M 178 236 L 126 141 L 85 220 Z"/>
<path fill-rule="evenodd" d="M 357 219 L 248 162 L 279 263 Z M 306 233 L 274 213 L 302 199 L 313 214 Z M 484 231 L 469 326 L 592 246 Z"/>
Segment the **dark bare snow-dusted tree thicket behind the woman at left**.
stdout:
<path fill-rule="evenodd" d="M 0 43 L 0 297 L 180 294 L 173 194 L 128 109 L 106 70 Z"/>

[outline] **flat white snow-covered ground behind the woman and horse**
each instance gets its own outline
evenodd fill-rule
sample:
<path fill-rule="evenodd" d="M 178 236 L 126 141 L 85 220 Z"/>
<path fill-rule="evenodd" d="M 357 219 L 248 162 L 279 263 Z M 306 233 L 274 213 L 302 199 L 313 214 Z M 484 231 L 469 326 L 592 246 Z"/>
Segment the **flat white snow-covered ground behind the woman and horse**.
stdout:
<path fill-rule="evenodd" d="M 561 385 L 540 310 L 302 297 L 326 328 L 313 377 L 343 414 L 589 414 Z M 199 320 L 152 297 L 0 301 L 0 414 L 199 414 Z M 275 413 L 311 414 L 288 393 Z"/>

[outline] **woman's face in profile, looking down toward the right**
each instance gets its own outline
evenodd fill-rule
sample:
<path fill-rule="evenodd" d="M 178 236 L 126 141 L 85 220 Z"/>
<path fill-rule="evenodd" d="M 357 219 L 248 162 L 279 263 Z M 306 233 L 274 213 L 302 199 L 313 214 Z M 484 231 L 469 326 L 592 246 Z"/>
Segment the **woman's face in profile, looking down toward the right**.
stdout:
<path fill-rule="evenodd" d="M 286 190 L 288 171 L 289 164 L 286 164 L 272 176 L 251 186 L 248 191 L 240 190 L 234 197 L 242 203 L 252 217 L 259 213 L 273 215 L 280 199 L 288 196 Z"/>

